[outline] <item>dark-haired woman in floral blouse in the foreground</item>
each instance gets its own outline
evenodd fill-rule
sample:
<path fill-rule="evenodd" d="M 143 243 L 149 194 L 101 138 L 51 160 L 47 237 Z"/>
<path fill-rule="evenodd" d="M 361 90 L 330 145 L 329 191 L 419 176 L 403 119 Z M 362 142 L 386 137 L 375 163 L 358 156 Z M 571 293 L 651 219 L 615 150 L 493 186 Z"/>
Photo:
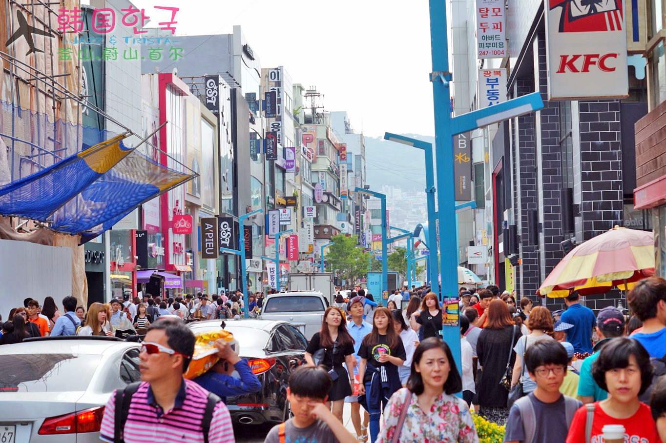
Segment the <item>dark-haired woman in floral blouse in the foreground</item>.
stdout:
<path fill-rule="evenodd" d="M 414 352 L 407 387 L 388 402 L 376 443 L 479 443 L 467 403 L 454 396 L 462 379 L 448 345 L 438 337 L 421 342 Z M 407 407 L 399 426 L 400 414 Z"/>

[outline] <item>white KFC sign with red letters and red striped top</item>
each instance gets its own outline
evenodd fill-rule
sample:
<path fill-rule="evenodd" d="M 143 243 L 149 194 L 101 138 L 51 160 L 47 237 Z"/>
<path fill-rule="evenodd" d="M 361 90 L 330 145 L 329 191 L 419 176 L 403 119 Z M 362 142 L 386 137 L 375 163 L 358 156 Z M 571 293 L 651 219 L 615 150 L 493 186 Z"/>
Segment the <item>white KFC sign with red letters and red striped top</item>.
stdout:
<path fill-rule="evenodd" d="M 547 2 L 548 100 L 629 95 L 624 1 Z"/>

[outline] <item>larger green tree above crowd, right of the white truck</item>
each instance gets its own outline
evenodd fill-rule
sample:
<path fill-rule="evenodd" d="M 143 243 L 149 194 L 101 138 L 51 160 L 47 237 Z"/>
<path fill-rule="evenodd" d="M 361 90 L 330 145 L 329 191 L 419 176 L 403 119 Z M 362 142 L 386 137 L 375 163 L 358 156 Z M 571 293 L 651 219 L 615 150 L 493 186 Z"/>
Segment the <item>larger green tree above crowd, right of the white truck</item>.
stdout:
<path fill-rule="evenodd" d="M 339 277 L 354 282 L 368 275 L 370 255 L 360 247 L 356 247 L 356 235 L 334 235 L 334 243 L 328 247 L 326 271 L 337 272 Z"/>

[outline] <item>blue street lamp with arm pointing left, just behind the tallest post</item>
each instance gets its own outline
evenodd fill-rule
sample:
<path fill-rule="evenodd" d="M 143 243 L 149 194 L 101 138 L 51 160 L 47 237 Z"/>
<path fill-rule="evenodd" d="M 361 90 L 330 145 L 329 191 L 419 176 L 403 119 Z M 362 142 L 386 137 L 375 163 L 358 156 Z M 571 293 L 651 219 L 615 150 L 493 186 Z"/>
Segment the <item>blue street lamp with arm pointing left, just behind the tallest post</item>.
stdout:
<path fill-rule="evenodd" d="M 426 154 L 426 201 L 428 204 L 428 226 L 430 226 L 430 229 L 428 229 L 428 245 L 430 245 L 430 254 L 437 257 L 437 232 L 435 230 L 437 212 L 435 210 L 435 172 L 432 160 L 432 143 L 399 134 L 392 134 L 391 132 L 384 134 L 384 140 L 413 146 L 414 148 L 423 150 Z M 436 266 L 429 266 L 428 268 L 430 271 L 430 288 L 434 293 L 439 294 L 438 269 Z"/>

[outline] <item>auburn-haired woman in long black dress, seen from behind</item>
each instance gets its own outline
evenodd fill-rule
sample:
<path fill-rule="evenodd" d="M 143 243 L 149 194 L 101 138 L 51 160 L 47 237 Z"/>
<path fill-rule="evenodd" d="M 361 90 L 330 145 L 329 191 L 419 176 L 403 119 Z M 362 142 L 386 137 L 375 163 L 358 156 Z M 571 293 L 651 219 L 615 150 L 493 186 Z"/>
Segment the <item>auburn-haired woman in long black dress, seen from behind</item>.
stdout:
<path fill-rule="evenodd" d="M 509 416 L 506 400 L 509 396 L 511 372 L 515 362 L 513 347 L 522 336 L 520 328 L 515 326 L 507 304 L 494 299 L 488 306 L 488 324 L 479 334 L 476 342 L 476 355 L 482 369 L 478 382 L 479 415 L 503 426 Z M 507 365 L 508 363 L 508 365 Z M 500 382 L 509 369 L 509 380 L 503 386 Z"/>

